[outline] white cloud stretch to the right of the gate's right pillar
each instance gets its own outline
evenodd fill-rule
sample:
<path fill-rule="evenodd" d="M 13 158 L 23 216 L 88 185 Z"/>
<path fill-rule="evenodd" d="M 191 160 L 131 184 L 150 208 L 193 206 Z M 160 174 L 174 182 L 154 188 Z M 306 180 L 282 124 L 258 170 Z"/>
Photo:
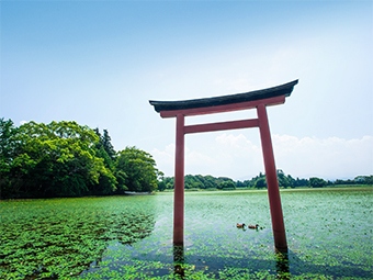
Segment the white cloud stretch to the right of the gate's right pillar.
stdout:
<path fill-rule="evenodd" d="M 360 139 L 274 135 L 276 165 L 287 173 L 347 178 L 373 173 L 373 136 Z"/>

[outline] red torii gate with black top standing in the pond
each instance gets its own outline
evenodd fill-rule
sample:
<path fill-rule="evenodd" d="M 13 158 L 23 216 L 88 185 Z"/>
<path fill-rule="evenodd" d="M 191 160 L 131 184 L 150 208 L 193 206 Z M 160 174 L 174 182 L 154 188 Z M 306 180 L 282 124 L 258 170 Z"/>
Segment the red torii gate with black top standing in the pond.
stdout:
<path fill-rule="evenodd" d="M 270 202 L 274 247 L 279 251 L 287 251 L 285 226 L 282 214 L 281 198 L 274 164 L 270 126 L 267 116 L 268 105 L 285 102 L 298 80 L 278 87 L 245 93 L 183 101 L 154 101 L 150 104 L 161 117 L 177 117 L 174 197 L 173 197 L 173 244 L 184 243 L 184 135 L 188 133 L 214 132 L 259 127 L 263 152 L 268 197 Z M 258 117 L 229 122 L 185 125 L 184 117 L 238 110 L 257 109 Z"/>

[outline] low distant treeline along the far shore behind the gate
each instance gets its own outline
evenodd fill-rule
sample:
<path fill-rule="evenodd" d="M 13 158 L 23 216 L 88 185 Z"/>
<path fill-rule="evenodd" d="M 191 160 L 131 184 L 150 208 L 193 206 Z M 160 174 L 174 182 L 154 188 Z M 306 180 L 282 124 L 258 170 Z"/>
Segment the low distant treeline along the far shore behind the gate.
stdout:
<path fill-rule="evenodd" d="M 278 170 L 278 180 L 280 188 L 323 188 L 340 184 L 373 184 L 373 176 L 358 176 L 353 180 L 336 180 L 326 181 L 323 178 L 312 177 L 309 179 L 293 178 L 291 175 L 285 175 L 281 169 Z M 163 191 L 173 189 L 173 177 L 165 177 L 158 182 L 158 190 Z M 267 181 L 265 175 L 259 173 L 258 176 L 245 181 L 234 181 L 226 177 L 213 177 L 202 175 L 187 175 L 184 177 L 185 189 L 218 189 L 218 190 L 235 190 L 237 188 L 248 189 L 265 189 Z"/>

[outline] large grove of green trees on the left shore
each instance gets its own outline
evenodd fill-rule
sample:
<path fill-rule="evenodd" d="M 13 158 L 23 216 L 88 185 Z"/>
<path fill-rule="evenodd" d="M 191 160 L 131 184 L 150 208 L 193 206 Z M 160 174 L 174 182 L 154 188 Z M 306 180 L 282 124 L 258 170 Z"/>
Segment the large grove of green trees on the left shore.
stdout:
<path fill-rule="evenodd" d="M 115 152 L 106 130 L 0 119 L 0 199 L 149 192 L 161 175 L 150 154 Z"/>

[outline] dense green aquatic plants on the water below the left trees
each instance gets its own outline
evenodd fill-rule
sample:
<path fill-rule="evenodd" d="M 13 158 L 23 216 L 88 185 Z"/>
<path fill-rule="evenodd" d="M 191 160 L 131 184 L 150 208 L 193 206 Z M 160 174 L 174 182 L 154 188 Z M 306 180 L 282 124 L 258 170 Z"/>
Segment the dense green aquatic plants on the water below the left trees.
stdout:
<path fill-rule="evenodd" d="M 151 206 L 140 209 L 132 203 L 117 204 L 120 201 L 106 198 L 3 202 L 0 278 L 78 276 L 101 257 L 108 240 L 131 244 L 149 235 L 155 223 Z"/>

